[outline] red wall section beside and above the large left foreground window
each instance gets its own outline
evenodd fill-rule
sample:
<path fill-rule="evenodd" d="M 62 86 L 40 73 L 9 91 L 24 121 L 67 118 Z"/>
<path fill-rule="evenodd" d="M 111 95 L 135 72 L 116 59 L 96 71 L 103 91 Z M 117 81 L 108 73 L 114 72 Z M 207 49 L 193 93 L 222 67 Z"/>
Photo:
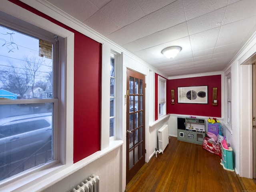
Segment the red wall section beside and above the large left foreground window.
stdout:
<path fill-rule="evenodd" d="M 74 33 L 74 162 L 78 162 L 100 150 L 102 45 L 18 0 L 9 1 Z"/>

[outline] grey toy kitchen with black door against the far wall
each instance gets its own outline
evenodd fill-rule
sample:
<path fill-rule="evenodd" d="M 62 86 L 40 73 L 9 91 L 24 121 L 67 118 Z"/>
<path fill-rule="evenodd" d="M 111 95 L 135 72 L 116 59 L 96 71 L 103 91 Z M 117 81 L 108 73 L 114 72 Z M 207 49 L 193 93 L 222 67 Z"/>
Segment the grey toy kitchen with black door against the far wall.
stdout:
<path fill-rule="evenodd" d="M 178 117 L 178 140 L 202 144 L 205 137 L 205 120 Z"/>

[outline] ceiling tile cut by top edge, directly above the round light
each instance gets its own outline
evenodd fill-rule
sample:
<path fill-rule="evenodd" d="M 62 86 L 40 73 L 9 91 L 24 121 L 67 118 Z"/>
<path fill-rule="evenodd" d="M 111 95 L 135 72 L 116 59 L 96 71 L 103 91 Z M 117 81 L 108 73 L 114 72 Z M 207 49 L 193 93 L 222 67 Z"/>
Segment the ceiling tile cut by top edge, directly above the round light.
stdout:
<path fill-rule="evenodd" d="M 147 17 L 157 31 L 186 21 L 182 0 L 177 0 L 149 14 Z"/>

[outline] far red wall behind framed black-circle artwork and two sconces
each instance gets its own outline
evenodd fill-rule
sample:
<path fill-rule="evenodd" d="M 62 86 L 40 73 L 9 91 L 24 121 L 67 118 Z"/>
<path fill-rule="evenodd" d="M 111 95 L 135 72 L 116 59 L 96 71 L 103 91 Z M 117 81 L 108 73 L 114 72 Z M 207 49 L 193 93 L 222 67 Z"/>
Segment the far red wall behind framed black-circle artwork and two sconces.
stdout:
<path fill-rule="evenodd" d="M 208 104 L 178 103 L 178 87 L 208 86 Z M 212 88 L 217 87 L 218 105 L 212 105 Z M 174 102 L 171 104 L 171 90 L 174 89 Z M 221 75 L 202 76 L 167 80 L 167 113 L 191 116 L 221 117 Z"/>

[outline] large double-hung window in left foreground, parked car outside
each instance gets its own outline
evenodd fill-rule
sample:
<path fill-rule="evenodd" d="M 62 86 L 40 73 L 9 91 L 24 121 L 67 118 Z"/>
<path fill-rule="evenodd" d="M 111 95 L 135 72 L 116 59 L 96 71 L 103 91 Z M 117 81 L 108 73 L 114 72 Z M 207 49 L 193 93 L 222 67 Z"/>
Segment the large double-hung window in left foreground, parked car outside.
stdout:
<path fill-rule="evenodd" d="M 0 180 L 58 158 L 58 36 L 43 32 L 0 26 Z"/>

